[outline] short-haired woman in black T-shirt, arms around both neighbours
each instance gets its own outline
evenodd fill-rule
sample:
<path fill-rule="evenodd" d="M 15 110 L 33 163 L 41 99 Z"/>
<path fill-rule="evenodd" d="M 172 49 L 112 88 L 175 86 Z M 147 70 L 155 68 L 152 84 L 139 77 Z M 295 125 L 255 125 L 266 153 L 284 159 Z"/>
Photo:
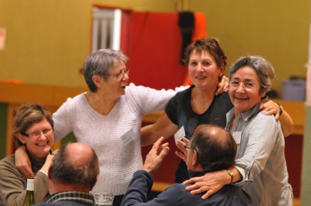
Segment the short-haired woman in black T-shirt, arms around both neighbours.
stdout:
<path fill-rule="evenodd" d="M 215 96 L 219 78 L 224 75 L 226 55 L 217 40 L 208 38 L 192 42 L 185 51 L 185 63 L 193 85 L 178 92 L 169 101 L 165 113 L 153 125 L 142 128 L 142 145 L 152 144 L 163 136 L 171 137 L 176 132 L 181 138 L 190 139 L 196 126 L 212 123 L 226 126 L 226 113 L 233 108 L 227 92 Z M 268 101 L 261 105 L 267 114 L 281 114 L 279 105 Z M 286 135 L 292 133 L 292 119 L 286 112 L 280 115 Z M 177 137 L 178 138 L 178 137 Z M 176 170 L 176 182 L 189 179 L 183 160 Z"/>

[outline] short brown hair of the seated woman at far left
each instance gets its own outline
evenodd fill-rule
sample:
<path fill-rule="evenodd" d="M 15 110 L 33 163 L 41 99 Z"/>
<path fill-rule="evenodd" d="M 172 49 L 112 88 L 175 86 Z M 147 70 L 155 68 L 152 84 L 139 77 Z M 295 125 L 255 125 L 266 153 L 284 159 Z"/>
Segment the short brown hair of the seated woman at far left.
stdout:
<path fill-rule="evenodd" d="M 43 119 L 47 119 L 53 128 L 53 119 L 49 111 L 47 111 L 40 104 L 26 104 L 17 108 L 15 118 L 14 118 L 14 128 L 12 135 L 16 146 L 22 146 L 22 142 L 16 138 L 18 133 L 25 134 L 26 130 L 30 128 L 33 123 L 38 123 Z"/>

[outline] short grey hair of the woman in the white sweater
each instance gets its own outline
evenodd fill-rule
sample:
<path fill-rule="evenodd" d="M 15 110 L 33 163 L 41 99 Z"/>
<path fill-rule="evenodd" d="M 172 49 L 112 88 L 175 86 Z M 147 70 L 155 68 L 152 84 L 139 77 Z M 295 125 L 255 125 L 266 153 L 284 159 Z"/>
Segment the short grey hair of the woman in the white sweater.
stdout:
<path fill-rule="evenodd" d="M 121 51 L 113 49 L 100 49 L 87 56 L 83 65 L 83 76 L 91 92 L 96 92 L 92 76 L 102 76 L 107 80 L 110 69 L 117 67 L 119 61 L 126 64 L 128 58 Z"/>

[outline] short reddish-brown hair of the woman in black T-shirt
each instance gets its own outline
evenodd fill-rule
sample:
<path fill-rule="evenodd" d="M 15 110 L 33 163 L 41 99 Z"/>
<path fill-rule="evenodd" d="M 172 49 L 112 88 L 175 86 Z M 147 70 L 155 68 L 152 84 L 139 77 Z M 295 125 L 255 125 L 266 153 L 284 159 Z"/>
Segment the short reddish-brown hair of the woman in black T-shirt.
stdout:
<path fill-rule="evenodd" d="M 212 55 L 212 57 L 215 59 L 217 67 L 221 67 L 222 65 L 226 67 L 227 65 L 227 57 L 224 53 L 224 50 L 221 49 L 217 40 L 213 38 L 195 40 L 194 42 L 189 44 L 189 46 L 187 46 L 187 49 L 185 50 L 184 60 L 187 65 L 189 65 L 190 55 L 193 51 L 198 51 L 200 53 L 202 51 L 208 51 L 208 53 L 210 53 L 210 55 Z"/>

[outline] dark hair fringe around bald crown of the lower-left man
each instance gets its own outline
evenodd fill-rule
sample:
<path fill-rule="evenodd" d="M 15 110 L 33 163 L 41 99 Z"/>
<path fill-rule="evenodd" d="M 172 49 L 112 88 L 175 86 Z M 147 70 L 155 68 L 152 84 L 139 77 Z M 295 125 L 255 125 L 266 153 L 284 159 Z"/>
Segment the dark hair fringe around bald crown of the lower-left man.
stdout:
<path fill-rule="evenodd" d="M 97 175 L 99 175 L 99 159 L 95 151 L 90 148 L 92 155 L 86 161 L 72 161 L 72 153 L 69 153 L 67 149 L 69 144 L 63 145 L 53 157 L 49 168 L 49 178 L 56 182 L 78 185 L 85 189 L 94 187 Z"/>

